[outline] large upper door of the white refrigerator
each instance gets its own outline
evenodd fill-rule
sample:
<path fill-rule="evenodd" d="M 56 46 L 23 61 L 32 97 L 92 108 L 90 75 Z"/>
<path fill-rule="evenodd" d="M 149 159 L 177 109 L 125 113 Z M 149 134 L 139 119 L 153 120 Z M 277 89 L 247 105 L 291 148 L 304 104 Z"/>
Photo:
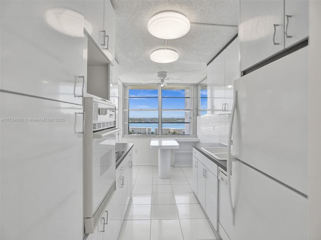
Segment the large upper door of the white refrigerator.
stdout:
<path fill-rule="evenodd" d="M 307 47 L 234 81 L 233 154 L 307 194 Z"/>

